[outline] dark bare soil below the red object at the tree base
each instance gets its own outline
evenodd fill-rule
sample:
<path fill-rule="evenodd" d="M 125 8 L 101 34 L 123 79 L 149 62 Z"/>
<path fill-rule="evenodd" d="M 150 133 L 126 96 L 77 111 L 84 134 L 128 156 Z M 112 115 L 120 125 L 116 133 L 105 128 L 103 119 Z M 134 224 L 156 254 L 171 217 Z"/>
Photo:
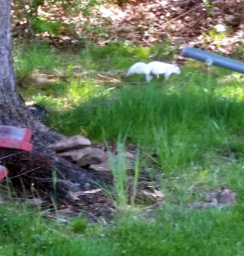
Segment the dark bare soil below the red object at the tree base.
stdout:
<path fill-rule="evenodd" d="M 9 170 L 7 179 L 0 182 L 1 200 L 8 200 L 10 189 L 12 199 L 26 201 L 45 210 L 50 209 L 45 214 L 47 218 L 56 218 L 56 213 L 59 218 L 68 218 L 81 212 L 91 222 L 109 220 L 112 217 L 113 202 L 104 195 L 102 189 L 94 189 L 90 183 L 87 183 L 84 191 L 75 189 L 67 195 L 59 194 L 59 191 L 55 190 L 55 183 L 66 184 L 69 181 L 54 177 L 48 156 L 0 149 L 0 160 Z M 111 182 L 107 181 L 107 188 Z M 53 210 L 55 208 L 57 212 Z"/>

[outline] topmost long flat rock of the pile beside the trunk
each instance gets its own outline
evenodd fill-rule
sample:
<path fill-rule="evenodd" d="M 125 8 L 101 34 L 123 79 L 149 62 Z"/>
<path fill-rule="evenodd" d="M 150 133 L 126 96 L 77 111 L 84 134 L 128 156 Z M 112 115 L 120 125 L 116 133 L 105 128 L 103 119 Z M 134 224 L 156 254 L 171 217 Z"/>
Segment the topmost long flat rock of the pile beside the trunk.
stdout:
<path fill-rule="evenodd" d="M 90 146 L 90 140 L 82 136 L 73 136 L 51 145 L 55 152 L 64 152 Z"/>

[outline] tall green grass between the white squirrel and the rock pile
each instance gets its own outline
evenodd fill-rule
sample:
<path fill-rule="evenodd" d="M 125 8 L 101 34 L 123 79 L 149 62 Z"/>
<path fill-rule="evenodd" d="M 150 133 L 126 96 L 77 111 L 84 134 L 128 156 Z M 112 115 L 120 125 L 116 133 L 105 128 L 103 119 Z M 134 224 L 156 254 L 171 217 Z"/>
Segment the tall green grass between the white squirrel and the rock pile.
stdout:
<path fill-rule="evenodd" d="M 140 61 L 147 50 L 126 42 L 105 48 L 89 44 L 80 57 L 88 75 L 78 79 L 69 70 L 67 83 L 38 90 L 32 85 L 25 93 L 48 108 L 49 125 L 68 136 L 82 134 L 94 142 L 116 143 L 120 134 L 126 135 L 126 143 L 140 143 L 142 168 L 166 175 L 164 186 L 177 187 L 169 191 L 173 201 L 189 201 L 187 186 L 218 187 L 225 182 L 212 183 L 212 172 L 219 177 L 220 172 L 214 170 L 226 166 L 224 158 L 238 163 L 243 156 L 243 78 L 196 61 L 167 82 L 154 79 L 150 84 L 130 84 L 144 80 L 143 75 L 136 75 L 117 85 L 97 84 L 89 74 L 95 66 L 97 73 L 107 69 L 113 58 Z M 68 67 L 68 60 L 59 67 Z"/>

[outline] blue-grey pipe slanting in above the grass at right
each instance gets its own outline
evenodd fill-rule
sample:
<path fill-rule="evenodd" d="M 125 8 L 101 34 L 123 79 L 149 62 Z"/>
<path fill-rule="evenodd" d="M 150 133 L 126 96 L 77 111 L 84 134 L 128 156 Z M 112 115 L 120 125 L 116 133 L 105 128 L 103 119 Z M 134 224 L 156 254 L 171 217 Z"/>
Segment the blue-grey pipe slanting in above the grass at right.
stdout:
<path fill-rule="evenodd" d="M 216 65 L 218 67 L 228 68 L 239 73 L 244 73 L 243 62 L 212 54 L 202 49 L 195 49 L 193 47 L 186 46 L 182 50 L 182 55 L 198 61 L 203 61 L 207 65 Z"/>

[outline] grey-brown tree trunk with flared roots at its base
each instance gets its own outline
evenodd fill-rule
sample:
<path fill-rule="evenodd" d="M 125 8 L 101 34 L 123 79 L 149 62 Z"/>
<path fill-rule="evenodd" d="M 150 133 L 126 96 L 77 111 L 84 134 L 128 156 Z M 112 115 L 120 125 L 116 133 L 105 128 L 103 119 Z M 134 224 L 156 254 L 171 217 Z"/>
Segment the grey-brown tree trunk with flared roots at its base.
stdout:
<path fill-rule="evenodd" d="M 55 131 L 50 131 L 49 127 L 35 119 L 15 88 L 10 31 L 10 2 L 10 0 L 0 0 L 0 125 L 15 125 L 32 129 L 33 152 L 36 155 L 49 157 L 51 162 L 49 184 L 52 185 L 51 173 L 55 170 L 58 177 L 57 189 L 62 195 L 66 195 L 67 191 L 71 189 L 83 190 L 87 187 L 87 183 L 92 183 L 95 179 L 94 175 L 61 159 L 49 149 L 50 143 L 55 143 L 63 136 Z M 9 176 L 11 177 L 11 173 L 9 173 Z"/>

